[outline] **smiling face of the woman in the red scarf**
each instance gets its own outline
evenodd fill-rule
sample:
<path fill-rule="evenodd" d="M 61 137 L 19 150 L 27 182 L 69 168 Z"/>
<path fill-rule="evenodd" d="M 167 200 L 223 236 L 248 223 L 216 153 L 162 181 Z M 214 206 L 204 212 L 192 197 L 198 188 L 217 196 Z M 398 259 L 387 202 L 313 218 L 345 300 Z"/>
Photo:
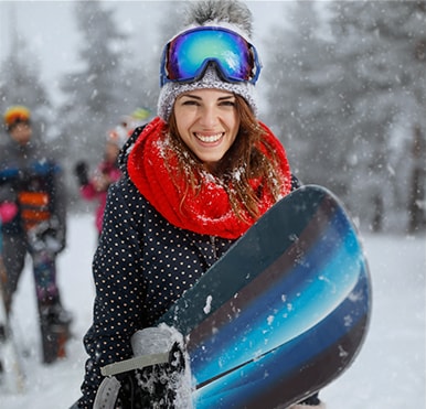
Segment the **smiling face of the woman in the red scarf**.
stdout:
<path fill-rule="evenodd" d="M 175 100 L 174 116 L 183 142 L 213 170 L 239 129 L 234 94 L 219 89 L 184 93 Z"/>

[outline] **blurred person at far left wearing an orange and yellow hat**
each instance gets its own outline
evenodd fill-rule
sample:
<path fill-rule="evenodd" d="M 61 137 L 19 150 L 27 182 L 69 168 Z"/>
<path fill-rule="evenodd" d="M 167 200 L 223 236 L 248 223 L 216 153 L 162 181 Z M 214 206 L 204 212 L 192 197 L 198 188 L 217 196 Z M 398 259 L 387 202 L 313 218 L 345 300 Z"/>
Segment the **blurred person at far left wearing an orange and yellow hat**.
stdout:
<path fill-rule="evenodd" d="M 29 254 L 33 261 L 43 362 L 50 363 L 55 360 L 56 352 L 46 344 L 44 330 L 55 327 L 68 334 L 71 324 L 56 282 L 56 256 L 66 244 L 62 169 L 50 147 L 34 138 L 26 107 L 10 107 L 3 122 L 9 138 L 0 151 L 6 308 L 9 313 Z"/>

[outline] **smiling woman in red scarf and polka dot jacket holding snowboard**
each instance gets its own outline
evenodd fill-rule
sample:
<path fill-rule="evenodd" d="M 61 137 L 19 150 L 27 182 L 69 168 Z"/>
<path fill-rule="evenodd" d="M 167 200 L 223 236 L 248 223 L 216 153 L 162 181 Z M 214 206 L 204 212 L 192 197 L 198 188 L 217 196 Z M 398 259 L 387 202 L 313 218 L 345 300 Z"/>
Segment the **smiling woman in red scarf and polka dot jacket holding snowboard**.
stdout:
<path fill-rule="evenodd" d="M 81 408 L 93 406 L 99 368 L 131 357 L 131 335 L 292 189 L 284 148 L 255 117 L 251 19 L 237 1 L 195 3 L 164 47 L 158 118 L 132 134 L 108 194 Z M 322 408 L 316 396 L 306 403 Z"/>

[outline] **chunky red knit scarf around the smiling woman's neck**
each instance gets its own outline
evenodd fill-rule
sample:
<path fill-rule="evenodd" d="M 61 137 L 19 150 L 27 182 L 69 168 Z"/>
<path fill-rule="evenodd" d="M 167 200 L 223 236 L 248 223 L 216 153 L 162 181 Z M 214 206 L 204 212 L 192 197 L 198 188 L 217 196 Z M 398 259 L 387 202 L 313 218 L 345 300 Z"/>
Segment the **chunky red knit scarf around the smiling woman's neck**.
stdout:
<path fill-rule="evenodd" d="M 280 159 L 280 176 L 283 179 L 281 196 L 291 189 L 291 175 L 286 152 L 271 131 L 266 130 L 265 139 Z M 171 153 L 164 137 L 166 123 L 153 119 L 139 136 L 129 154 L 128 172 L 130 180 L 151 205 L 172 225 L 202 235 L 235 239 L 242 236 L 256 220 L 244 222 L 232 211 L 226 191 L 211 175 L 200 175 L 201 189 L 194 193 L 189 190 L 183 205 L 182 192 L 185 181 L 178 181 L 179 172 L 173 168 L 178 164 L 175 153 Z M 166 153 L 167 152 L 167 153 Z M 168 165 L 164 158 L 168 159 Z M 175 168 L 177 169 L 177 168 Z M 173 173 L 173 177 L 170 176 Z M 259 186 L 262 181 L 253 180 L 252 185 Z M 275 203 L 267 190 L 263 190 L 259 212 L 264 214 Z"/>

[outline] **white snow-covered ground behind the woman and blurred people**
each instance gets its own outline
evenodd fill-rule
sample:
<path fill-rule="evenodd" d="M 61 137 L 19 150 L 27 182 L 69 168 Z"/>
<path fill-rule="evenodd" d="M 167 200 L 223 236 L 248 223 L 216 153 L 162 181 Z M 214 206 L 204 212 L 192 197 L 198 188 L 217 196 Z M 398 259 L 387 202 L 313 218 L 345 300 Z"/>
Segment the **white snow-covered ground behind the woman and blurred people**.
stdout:
<path fill-rule="evenodd" d="M 373 314 L 354 364 L 321 392 L 328 409 L 425 408 L 425 236 L 365 235 L 372 271 Z M 14 303 L 14 332 L 24 355 L 26 390 L 3 395 L 4 409 L 68 408 L 79 396 L 86 359 L 82 337 L 90 324 L 94 286 L 90 263 L 96 245 L 94 218 L 71 216 L 68 248 L 58 260 L 64 304 L 74 314 L 68 357 L 40 363 L 40 335 L 30 267 Z"/>

